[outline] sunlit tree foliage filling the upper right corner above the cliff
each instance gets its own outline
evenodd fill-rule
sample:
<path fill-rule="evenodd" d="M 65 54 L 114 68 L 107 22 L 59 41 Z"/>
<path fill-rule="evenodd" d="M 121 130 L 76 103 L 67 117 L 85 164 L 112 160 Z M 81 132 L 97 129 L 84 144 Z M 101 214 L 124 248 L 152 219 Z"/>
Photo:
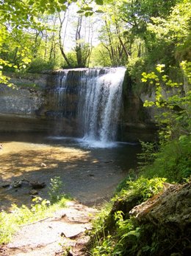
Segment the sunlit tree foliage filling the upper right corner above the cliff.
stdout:
<path fill-rule="evenodd" d="M 134 91 L 148 91 L 141 74 L 151 74 L 157 63 L 165 64 L 168 80 L 183 83 L 179 63 L 190 61 L 190 1 L 126 1 L 121 15 L 129 23 L 129 34 L 140 38 L 140 54 L 131 55 L 128 69 Z M 159 5 L 158 5 L 159 4 Z M 136 13 L 136 15 L 134 15 Z M 135 51 L 136 52 L 136 51 Z"/>

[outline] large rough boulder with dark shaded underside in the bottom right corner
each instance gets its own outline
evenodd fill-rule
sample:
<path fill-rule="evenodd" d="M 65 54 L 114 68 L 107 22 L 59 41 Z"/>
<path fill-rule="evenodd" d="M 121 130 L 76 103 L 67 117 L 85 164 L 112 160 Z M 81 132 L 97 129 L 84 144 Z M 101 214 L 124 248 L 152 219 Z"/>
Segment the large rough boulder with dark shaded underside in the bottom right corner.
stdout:
<path fill-rule="evenodd" d="M 147 255 L 145 246 L 153 246 L 150 255 L 155 256 L 191 254 L 191 182 L 165 185 L 162 193 L 129 212 L 141 226 L 140 255 Z"/>

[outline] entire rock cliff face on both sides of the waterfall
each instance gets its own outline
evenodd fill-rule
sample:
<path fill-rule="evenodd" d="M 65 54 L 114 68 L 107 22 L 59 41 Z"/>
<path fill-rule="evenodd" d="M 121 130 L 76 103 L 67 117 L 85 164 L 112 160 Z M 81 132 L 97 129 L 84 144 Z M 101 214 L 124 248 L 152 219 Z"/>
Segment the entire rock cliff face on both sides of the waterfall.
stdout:
<path fill-rule="evenodd" d="M 58 72 L 41 75 L 12 75 L 12 83 L 18 89 L 0 86 L 0 131 L 43 131 L 65 136 L 82 136 L 77 128 L 76 105 L 78 88 L 75 79 L 70 93 L 58 100 L 61 94 L 55 90 Z M 125 80 L 123 105 L 118 122 L 118 140 L 152 140 L 155 128 L 151 115 L 143 108 L 143 102 L 131 90 Z M 63 113 L 62 107 L 67 105 Z"/>

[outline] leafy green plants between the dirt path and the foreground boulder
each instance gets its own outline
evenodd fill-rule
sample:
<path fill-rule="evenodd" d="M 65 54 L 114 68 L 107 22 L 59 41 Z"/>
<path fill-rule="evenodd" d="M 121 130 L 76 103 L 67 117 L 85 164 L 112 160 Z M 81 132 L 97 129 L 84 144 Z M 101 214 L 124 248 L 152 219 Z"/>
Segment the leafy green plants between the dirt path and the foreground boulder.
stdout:
<path fill-rule="evenodd" d="M 123 201 L 130 201 L 131 198 L 140 196 L 141 201 L 137 204 L 151 198 L 154 194 L 162 190 L 165 179 L 145 179 L 140 177 L 136 181 L 127 181 L 127 187 L 112 199 L 115 203 L 123 205 Z M 111 206 L 110 206 L 111 207 Z M 109 209 L 111 209 L 109 207 Z M 92 250 L 91 255 L 115 256 L 115 255 L 136 255 L 137 241 L 140 238 L 141 228 L 137 226 L 134 218 L 127 217 L 129 212 L 115 210 L 115 206 L 104 215 L 98 215 L 93 224 Z M 108 218 L 114 219 L 114 224 L 108 222 Z"/>

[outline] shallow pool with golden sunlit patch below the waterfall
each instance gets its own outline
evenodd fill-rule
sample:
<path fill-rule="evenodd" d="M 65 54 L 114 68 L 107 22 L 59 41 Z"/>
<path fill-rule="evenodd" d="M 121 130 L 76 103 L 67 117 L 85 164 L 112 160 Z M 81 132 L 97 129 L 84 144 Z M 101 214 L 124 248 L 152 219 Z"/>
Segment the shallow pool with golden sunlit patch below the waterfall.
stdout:
<path fill-rule="evenodd" d="M 60 176 L 63 193 L 87 205 L 107 201 L 118 183 L 136 166 L 140 145 L 116 142 L 112 145 L 84 142 L 83 139 L 44 134 L 1 134 L 0 143 L 0 209 L 11 204 L 31 204 L 32 189 L 29 184 L 21 187 L 2 187 L 13 181 L 46 182 L 39 191 L 48 198 L 51 178 Z"/>

